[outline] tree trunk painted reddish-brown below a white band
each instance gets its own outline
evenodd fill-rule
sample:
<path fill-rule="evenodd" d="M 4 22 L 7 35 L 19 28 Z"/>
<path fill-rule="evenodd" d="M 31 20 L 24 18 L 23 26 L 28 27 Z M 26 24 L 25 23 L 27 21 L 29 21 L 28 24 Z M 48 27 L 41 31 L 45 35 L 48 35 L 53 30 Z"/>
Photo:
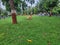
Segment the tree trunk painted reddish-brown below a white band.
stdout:
<path fill-rule="evenodd" d="M 9 0 L 10 3 L 10 8 L 11 8 L 11 15 L 12 15 L 12 23 L 16 24 L 17 23 L 17 19 L 16 19 L 16 10 L 14 7 L 14 1 L 13 0 Z"/>

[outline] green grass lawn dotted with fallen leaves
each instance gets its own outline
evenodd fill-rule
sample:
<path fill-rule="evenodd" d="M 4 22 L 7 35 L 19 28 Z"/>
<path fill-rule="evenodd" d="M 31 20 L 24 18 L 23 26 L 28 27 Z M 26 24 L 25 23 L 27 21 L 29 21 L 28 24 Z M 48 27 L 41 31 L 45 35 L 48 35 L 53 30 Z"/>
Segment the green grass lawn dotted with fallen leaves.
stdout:
<path fill-rule="evenodd" d="M 11 17 L 0 20 L 0 45 L 60 45 L 60 17 L 17 16 L 17 20 L 18 24 L 12 24 Z"/>

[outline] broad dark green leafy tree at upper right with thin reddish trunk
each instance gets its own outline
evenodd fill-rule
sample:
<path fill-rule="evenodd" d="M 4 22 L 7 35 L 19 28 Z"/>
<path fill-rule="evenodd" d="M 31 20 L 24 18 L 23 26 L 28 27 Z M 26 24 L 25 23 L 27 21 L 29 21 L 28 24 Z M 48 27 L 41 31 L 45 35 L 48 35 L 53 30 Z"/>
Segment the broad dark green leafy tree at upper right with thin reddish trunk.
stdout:
<path fill-rule="evenodd" d="M 50 16 L 52 15 L 52 10 L 54 7 L 57 7 L 58 0 L 40 0 L 37 7 L 40 11 L 49 11 Z"/>

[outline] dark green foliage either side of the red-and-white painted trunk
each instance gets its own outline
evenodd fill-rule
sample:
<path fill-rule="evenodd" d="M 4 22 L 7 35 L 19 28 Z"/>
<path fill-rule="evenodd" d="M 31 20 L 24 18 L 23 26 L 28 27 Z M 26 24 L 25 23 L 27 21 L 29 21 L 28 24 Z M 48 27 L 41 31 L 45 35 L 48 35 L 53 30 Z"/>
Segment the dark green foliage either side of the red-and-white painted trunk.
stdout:
<path fill-rule="evenodd" d="M 6 6 L 6 10 L 10 11 L 11 9 L 10 9 L 10 5 L 9 5 L 9 0 L 2 0 L 2 2 Z M 23 6 L 23 10 L 24 10 L 24 8 L 27 6 L 27 4 L 25 3 L 25 1 L 22 1 L 22 0 L 14 0 L 15 9 L 17 11 L 20 11 L 21 3 L 22 3 L 22 6 Z"/>

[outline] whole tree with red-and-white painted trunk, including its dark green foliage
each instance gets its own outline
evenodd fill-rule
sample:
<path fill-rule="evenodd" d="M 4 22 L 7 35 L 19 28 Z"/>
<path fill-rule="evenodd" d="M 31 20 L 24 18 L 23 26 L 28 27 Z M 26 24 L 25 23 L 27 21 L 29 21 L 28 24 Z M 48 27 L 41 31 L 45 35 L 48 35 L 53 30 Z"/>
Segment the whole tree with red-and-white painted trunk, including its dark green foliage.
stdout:
<path fill-rule="evenodd" d="M 21 7 L 19 5 L 21 5 L 21 3 L 24 10 L 24 8 L 26 7 L 26 3 L 22 0 L 2 0 L 2 2 L 6 6 L 6 10 L 11 11 L 12 23 L 16 24 L 17 23 L 16 11 L 18 12 L 20 10 Z"/>

